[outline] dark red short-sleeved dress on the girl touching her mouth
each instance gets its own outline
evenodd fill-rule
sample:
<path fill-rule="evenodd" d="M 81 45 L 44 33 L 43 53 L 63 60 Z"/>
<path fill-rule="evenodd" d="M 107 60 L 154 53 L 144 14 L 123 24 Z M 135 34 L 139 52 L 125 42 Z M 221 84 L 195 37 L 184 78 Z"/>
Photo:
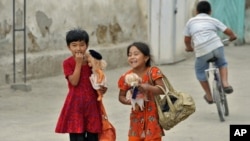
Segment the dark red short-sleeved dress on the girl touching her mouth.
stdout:
<path fill-rule="evenodd" d="M 88 64 L 81 68 L 77 86 L 71 85 L 68 76 L 74 72 L 75 60 L 69 57 L 63 62 L 63 71 L 68 82 L 68 95 L 58 118 L 56 133 L 100 133 L 102 130 L 100 103 L 97 92 L 90 82 L 91 68 Z"/>

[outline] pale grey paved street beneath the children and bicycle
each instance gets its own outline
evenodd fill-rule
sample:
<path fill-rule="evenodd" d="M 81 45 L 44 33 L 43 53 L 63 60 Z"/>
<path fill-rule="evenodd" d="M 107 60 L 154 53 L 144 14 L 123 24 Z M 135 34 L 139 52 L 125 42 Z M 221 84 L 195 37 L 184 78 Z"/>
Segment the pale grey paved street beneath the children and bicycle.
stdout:
<path fill-rule="evenodd" d="M 228 95 L 229 116 L 220 122 L 216 105 L 208 105 L 195 79 L 194 57 L 171 65 L 161 65 L 172 85 L 190 93 L 196 112 L 173 129 L 166 131 L 163 141 L 229 141 L 230 124 L 250 124 L 250 45 L 225 48 L 229 62 L 229 81 L 234 93 Z M 106 71 L 109 89 L 104 103 L 110 121 L 117 130 L 117 141 L 127 140 L 130 106 L 118 101 L 117 79 L 128 67 Z M 63 75 L 31 80 L 32 91 L 14 91 L 0 87 L 1 141 L 68 141 L 68 134 L 56 134 L 54 128 L 67 94 Z"/>

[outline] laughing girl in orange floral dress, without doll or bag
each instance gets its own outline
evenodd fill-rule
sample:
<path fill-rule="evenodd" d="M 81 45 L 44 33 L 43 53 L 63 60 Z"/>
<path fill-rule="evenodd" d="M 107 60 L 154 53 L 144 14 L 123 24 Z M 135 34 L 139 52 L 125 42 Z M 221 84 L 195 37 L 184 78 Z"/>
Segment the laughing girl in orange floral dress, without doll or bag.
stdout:
<path fill-rule="evenodd" d="M 143 111 L 131 108 L 128 141 L 161 141 L 164 131 L 158 123 L 159 117 L 154 95 L 163 94 L 162 90 L 155 86 L 161 85 L 164 87 L 161 80 L 163 75 L 157 67 L 152 68 L 151 73 L 149 73 L 152 59 L 150 48 L 147 44 L 135 42 L 129 45 L 127 56 L 131 69 L 125 72 L 118 80 L 118 87 L 120 89 L 119 101 L 124 105 L 131 105 L 130 99 L 126 98 L 126 93 L 130 90 L 130 87 L 125 83 L 125 76 L 130 73 L 136 73 L 141 78 L 142 81 L 138 85 L 138 90 L 148 99 L 144 101 L 145 108 Z M 149 75 L 155 85 L 150 84 Z"/>

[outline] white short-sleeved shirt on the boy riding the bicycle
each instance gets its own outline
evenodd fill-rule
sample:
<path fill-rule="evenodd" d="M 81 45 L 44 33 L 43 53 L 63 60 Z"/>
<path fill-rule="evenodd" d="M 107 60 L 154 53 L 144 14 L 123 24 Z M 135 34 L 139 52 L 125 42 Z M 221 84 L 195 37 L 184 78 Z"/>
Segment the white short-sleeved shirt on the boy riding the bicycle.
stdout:
<path fill-rule="evenodd" d="M 200 57 L 223 46 L 217 32 L 223 32 L 226 29 L 227 26 L 221 21 L 202 13 L 189 19 L 184 29 L 184 35 L 192 37 L 195 56 Z"/>

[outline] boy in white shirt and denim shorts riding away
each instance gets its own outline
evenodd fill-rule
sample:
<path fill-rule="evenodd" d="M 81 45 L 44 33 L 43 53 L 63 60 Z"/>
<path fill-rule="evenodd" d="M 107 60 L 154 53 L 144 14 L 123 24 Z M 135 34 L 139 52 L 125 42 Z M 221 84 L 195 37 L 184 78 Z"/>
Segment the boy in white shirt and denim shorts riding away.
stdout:
<path fill-rule="evenodd" d="M 233 92 L 233 87 L 228 83 L 228 63 L 224 56 L 224 45 L 217 31 L 222 31 L 225 35 L 229 36 L 229 41 L 236 40 L 237 37 L 230 28 L 218 19 L 210 16 L 211 5 L 209 2 L 200 1 L 197 4 L 196 12 L 197 15 L 189 19 L 184 29 L 185 50 L 187 52 L 195 52 L 196 77 L 206 93 L 204 99 L 207 103 L 212 104 L 211 90 L 205 75 L 205 70 L 209 68 L 207 60 L 213 57 L 217 58 L 215 64 L 220 71 L 223 89 L 227 94 Z"/>

